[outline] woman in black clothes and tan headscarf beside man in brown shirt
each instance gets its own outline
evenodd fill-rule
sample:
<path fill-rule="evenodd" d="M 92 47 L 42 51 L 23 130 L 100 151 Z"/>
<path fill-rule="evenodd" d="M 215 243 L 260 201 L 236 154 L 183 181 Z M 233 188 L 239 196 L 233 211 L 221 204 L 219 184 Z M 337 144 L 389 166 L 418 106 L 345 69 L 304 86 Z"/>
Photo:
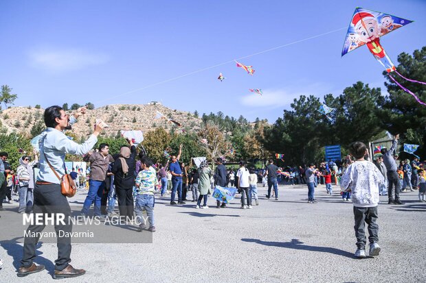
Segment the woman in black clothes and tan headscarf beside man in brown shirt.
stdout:
<path fill-rule="evenodd" d="M 111 172 L 114 174 L 115 193 L 120 217 L 133 219 L 133 186 L 135 186 L 136 147 L 127 139 L 130 148 L 120 149 L 120 158 L 115 160 Z"/>

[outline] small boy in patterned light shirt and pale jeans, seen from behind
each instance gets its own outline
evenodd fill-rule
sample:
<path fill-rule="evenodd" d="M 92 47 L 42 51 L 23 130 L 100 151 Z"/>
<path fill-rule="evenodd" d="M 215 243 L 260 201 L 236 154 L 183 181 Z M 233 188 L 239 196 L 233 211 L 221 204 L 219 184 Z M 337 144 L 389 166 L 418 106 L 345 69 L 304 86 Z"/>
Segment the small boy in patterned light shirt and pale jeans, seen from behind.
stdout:
<path fill-rule="evenodd" d="M 153 161 L 148 157 L 141 159 L 141 171 L 136 177 L 136 204 L 135 212 L 137 220 L 139 220 L 139 232 L 142 232 L 144 227 L 144 219 L 142 217 L 142 210 L 146 210 L 150 227 L 148 231 L 155 232 L 154 223 L 154 204 L 155 197 L 154 191 L 157 186 L 157 172 L 153 168 Z"/>

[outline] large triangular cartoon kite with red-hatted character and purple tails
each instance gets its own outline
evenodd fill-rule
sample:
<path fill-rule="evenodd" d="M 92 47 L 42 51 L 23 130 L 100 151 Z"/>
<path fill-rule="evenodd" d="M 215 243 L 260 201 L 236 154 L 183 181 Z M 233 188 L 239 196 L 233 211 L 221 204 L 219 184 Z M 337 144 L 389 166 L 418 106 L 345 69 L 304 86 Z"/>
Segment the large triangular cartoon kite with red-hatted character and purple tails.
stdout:
<path fill-rule="evenodd" d="M 355 8 L 352 21 L 350 21 L 350 25 L 348 27 L 348 32 L 346 34 L 343 50 L 341 51 L 341 56 L 344 56 L 346 53 L 357 49 L 358 47 L 367 45 L 368 50 L 370 50 L 374 58 L 376 58 L 377 61 L 379 61 L 379 63 L 385 67 L 386 71 L 388 71 L 390 79 L 392 79 L 392 81 L 394 81 L 394 83 L 402 88 L 405 92 L 412 95 L 418 103 L 426 106 L 425 102 L 421 101 L 421 99 L 412 93 L 411 90 L 405 88 L 399 82 L 397 82 L 396 79 L 390 75 L 390 73 L 394 72 L 396 75 L 399 75 L 409 82 L 416 82 L 418 84 L 426 83 L 418 82 L 414 79 L 407 79 L 398 73 L 394 63 L 392 63 L 385 49 L 383 49 L 383 47 L 380 45 L 381 36 L 393 32 L 395 29 L 399 29 L 399 27 L 409 23 L 412 23 L 412 21 L 382 12 L 370 11 L 363 8 Z"/>

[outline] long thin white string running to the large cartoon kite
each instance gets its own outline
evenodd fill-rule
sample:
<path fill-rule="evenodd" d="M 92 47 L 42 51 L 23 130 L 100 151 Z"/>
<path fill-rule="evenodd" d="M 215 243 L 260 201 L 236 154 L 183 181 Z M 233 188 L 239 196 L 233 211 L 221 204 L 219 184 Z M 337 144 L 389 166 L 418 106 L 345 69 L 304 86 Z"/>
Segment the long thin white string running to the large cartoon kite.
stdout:
<path fill-rule="evenodd" d="M 327 34 L 333 34 L 334 32 L 339 32 L 339 31 L 341 31 L 342 29 L 346 29 L 346 27 L 341 27 L 341 28 L 339 28 L 339 29 L 331 30 L 330 32 L 324 32 L 324 33 L 322 33 L 322 34 L 317 34 L 317 35 L 315 35 L 315 36 L 310 36 L 310 37 L 308 37 L 308 38 L 303 38 L 303 39 L 300 39 L 300 40 L 296 40 L 296 41 L 293 41 L 293 42 L 289 42 L 289 43 L 287 43 L 287 44 L 285 44 L 285 45 L 280 45 L 280 46 L 277 46 L 277 47 L 273 47 L 273 48 L 270 48 L 270 49 L 266 49 L 266 50 L 263 50 L 263 51 L 259 51 L 259 52 L 256 52 L 256 53 L 252 53 L 252 54 L 250 54 L 250 55 L 243 56 L 243 57 L 240 57 L 240 58 L 236 58 L 236 59 L 234 59 L 234 60 L 241 60 L 241 59 L 250 58 L 250 57 L 253 57 L 253 56 L 256 56 L 256 55 L 262 54 L 262 53 L 266 53 L 266 52 L 269 52 L 269 51 L 273 51 L 273 50 L 276 50 L 276 49 L 280 49 L 280 48 L 282 48 L 282 47 L 287 47 L 287 46 L 290 46 L 290 45 L 295 45 L 295 44 L 297 44 L 297 43 L 304 42 L 304 41 L 306 41 L 306 40 L 311 40 L 311 39 L 313 39 L 313 38 L 319 38 L 319 37 L 321 37 L 321 36 L 326 36 Z M 218 67 L 218 66 L 223 66 L 223 65 L 225 65 L 225 64 L 232 63 L 232 62 L 234 62 L 234 60 L 229 60 L 229 61 L 226 61 L 226 62 L 223 62 L 223 63 L 215 64 L 215 65 L 213 65 L 213 66 L 208 66 L 208 67 L 205 67 L 205 68 L 203 68 L 203 69 L 199 69 L 199 70 L 197 70 L 197 71 L 192 71 L 192 72 L 190 72 L 190 73 L 186 73 L 186 74 L 183 74 L 183 75 L 179 75 L 179 76 L 177 76 L 177 77 L 172 77 L 172 78 L 170 78 L 170 79 L 165 79 L 164 81 L 156 82 L 156 83 L 154 83 L 154 84 L 148 84 L 148 86 L 144 86 L 144 87 L 142 87 L 142 88 L 136 88 L 136 89 L 134 89 L 134 90 L 129 90 L 129 91 L 128 91 L 128 92 L 126 92 L 126 93 L 122 93 L 122 94 L 120 94 L 120 95 L 115 95 L 115 96 L 113 96 L 113 97 L 109 97 L 109 98 L 103 99 L 103 100 L 101 100 L 101 101 L 111 100 L 111 99 L 114 99 L 114 98 L 117 98 L 117 97 L 122 97 L 122 96 L 124 96 L 124 95 L 128 95 L 128 94 L 130 94 L 130 93 L 135 93 L 135 92 L 137 92 L 137 91 L 139 91 L 139 90 L 144 90 L 144 89 L 146 89 L 146 88 L 150 88 L 150 87 L 153 87 L 153 86 L 158 86 L 159 84 L 165 84 L 166 82 L 172 82 L 172 81 L 175 81 L 176 79 L 181 79 L 182 77 L 188 77 L 188 75 L 194 75 L 194 74 L 196 74 L 196 73 L 201 73 L 201 72 L 203 72 L 203 71 L 207 71 L 207 70 L 210 70 L 210 69 L 214 69 L 214 68 L 216 68 L 216 67 Z"/>

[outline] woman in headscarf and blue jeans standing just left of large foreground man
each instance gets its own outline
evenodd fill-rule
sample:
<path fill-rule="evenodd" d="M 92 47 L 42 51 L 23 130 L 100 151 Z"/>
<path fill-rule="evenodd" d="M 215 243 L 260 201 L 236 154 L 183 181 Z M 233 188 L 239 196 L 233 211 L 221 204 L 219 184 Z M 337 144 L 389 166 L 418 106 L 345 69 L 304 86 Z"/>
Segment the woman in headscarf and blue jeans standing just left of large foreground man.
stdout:
<path fill-rule="evenodd" d="M 32 204 L 34 203 L 34 167 L 38 163 L 37 154 L 34 154 L 34 161 L 30 162 L 30 156 L 22 156 L 19 158 L 19 166 L 16 169 L 16 175 L 19 179 L 19 213 L 32 212 Z"/>

